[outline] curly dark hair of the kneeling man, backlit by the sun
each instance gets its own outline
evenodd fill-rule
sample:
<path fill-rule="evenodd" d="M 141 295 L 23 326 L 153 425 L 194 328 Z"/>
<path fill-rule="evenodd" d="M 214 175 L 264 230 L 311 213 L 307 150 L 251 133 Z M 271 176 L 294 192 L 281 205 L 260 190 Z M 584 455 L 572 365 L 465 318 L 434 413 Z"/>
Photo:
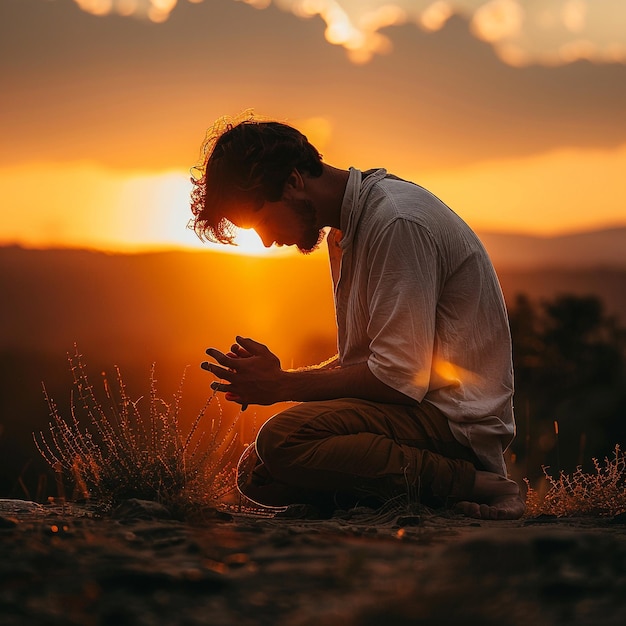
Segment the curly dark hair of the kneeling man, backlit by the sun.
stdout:
<path fill-rule="evenodd" d="M 261 208 L 283 195 L 290 174 L 318 177 L 322 156 L 295 128 L 261 121 L 247 111 L 242 121 L 218 119 L 207 131 L 201 163 L 192 168 L 189 222 L 202 241 L 233 243 L 235 228 L 223 214 L 226 202 Z"/>

